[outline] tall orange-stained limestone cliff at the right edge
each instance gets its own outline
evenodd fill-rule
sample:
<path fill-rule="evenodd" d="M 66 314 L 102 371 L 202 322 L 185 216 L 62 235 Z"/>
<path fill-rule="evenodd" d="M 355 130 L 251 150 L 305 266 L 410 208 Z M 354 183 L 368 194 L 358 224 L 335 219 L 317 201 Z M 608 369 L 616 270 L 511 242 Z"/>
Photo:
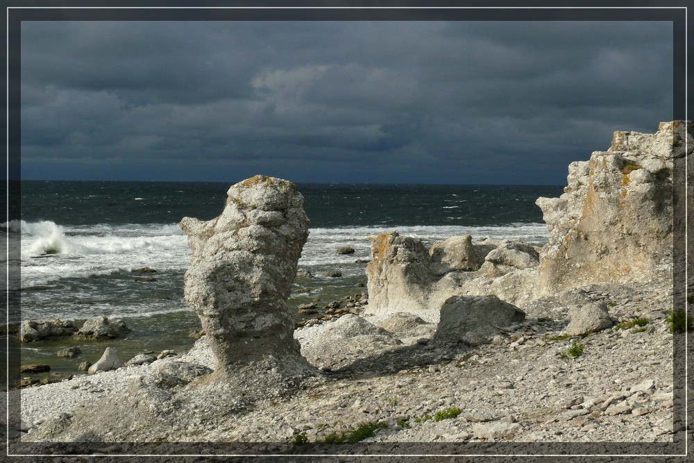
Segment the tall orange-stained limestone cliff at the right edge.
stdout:
<path fill-rule="evenodd" d="M 564 194 L 536 201 L 550 231 L 545 290 L 648 280 L 671 261 L 674 161 L 693 146 L 691 122 L 663 122 L 653 135 L 615 132 L 608 151 L 572 162 Z"/>

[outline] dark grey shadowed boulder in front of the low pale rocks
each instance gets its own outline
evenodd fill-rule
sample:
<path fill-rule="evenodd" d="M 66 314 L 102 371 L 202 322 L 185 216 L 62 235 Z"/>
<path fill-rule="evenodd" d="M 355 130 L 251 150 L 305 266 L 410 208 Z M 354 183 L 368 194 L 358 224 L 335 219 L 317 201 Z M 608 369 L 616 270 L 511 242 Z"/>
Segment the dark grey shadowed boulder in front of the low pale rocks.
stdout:
<path fill-rule="evenodd" d="M 498 327 L 525 320 L 525 312 L 497 296 L 455 296 L 441 307 L 441 319 L 432 338 L 433 344 L 468 344 L 491 342 L 501 334 Z"/>

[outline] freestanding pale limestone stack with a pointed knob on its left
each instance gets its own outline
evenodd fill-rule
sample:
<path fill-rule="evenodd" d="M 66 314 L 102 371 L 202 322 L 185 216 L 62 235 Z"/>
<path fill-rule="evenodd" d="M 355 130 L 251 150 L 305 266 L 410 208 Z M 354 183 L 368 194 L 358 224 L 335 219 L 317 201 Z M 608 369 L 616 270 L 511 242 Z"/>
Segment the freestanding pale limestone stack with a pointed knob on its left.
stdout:
<path fill-rule="evenodd" d="M 185 301 L 207 333 L 215 378 L 251 364 L 280 376 L 313 371 L 286 304 L 308 226 L 296 186 L 260 175 L 230 187 L 216 219 L 180 222 L 192 249 Z"/>

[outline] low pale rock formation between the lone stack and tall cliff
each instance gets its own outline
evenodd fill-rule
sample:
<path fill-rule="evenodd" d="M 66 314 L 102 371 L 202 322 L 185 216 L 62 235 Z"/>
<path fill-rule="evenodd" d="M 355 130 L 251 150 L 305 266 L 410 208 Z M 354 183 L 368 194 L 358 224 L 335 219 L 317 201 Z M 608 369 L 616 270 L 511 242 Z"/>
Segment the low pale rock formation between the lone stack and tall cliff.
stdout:
<path fill-rule="evenodd" d="M 516 303 L 533 294 L 538 254 L 519 240 L 476 245 L 467 235 L 434 243 L 428 250 L 420 239 L 396 231 L 370 239 L 368 314 L 410 312 L 437 323 L 451 296 L 498 294 Z M 480 258 L 484 253 L 486 258 Z"/>

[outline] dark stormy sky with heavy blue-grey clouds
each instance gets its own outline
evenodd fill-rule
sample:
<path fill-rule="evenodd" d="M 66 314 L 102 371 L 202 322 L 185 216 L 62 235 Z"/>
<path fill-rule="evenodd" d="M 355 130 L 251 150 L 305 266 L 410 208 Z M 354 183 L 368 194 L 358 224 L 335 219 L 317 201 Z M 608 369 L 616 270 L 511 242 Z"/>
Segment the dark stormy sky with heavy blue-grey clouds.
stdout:
<path fill-rule="evenodd" d="M 22 178 L 566 184 L 672 119 L 672 22 L 22 22 Z"/>

